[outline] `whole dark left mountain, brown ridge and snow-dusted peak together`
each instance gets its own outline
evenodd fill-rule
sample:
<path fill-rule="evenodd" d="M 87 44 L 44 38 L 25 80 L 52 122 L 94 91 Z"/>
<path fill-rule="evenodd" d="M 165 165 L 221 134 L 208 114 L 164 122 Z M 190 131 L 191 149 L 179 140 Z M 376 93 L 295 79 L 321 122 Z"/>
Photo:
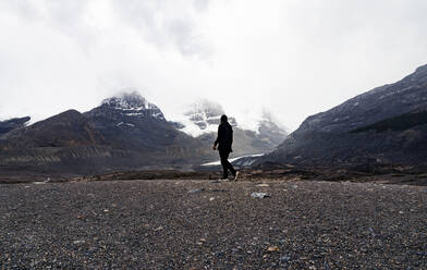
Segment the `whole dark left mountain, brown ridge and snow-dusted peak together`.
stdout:
<path fill-rule="evenodd" d="M 0 170 L 93 174 L 183 168 L 212 157 L 137 93 L 106 99 L 88 112 L 62 112 L 0 139 Z"/>

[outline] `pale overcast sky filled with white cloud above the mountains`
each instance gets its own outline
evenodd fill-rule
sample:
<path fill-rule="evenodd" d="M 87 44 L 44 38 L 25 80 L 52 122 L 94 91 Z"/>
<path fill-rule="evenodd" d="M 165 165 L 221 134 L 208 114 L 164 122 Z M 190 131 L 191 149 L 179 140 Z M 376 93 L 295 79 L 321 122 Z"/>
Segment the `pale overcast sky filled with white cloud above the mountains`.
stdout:
<path fill-rule="evenodd" d="M 0 0 L 0 119 L 123 88 L 170 120 L 200 98 L 284 125 L 427 63 L 426 0 Z"/>

